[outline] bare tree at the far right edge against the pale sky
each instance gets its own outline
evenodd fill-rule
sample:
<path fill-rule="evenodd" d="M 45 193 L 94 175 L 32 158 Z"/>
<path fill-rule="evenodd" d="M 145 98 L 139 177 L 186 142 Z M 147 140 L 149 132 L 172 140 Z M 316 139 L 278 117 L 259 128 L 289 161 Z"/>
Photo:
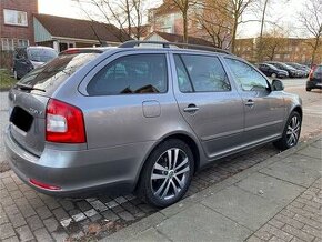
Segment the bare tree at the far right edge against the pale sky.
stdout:
<path fill-rule="evenodd" d="M 314 39 L 313 42 L 308 42 L 312 48 L 312 65 L 315 61 L 318 49 L 322 46 L 322 1 L 308 0 L 303 11 L 299 13 L 299 19 L 305 31 Z"/>

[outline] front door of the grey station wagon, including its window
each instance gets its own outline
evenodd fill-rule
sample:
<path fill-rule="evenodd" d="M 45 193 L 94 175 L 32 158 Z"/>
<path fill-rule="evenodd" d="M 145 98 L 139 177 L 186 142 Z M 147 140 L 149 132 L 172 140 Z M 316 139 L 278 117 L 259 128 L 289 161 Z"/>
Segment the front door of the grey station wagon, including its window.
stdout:
<path fill-rule="evenodd" d="M 284 123 L 284 99 L 272 91 L 268 80 L 248 63 L 224 58 L 243 99 L 244 131 L 248 143 L 279 137 Z"/>

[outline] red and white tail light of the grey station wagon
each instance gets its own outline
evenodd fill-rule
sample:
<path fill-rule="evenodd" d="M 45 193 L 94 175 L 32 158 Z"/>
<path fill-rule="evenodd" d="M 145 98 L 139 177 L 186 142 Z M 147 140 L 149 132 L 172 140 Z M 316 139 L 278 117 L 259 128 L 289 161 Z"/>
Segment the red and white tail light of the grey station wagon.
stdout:
<path fill-rule="evenodd" d="M 84 143 L 82 111 L 66 102 L 50 99 L 46 109 L 46 140 L 57 143 Z"/>

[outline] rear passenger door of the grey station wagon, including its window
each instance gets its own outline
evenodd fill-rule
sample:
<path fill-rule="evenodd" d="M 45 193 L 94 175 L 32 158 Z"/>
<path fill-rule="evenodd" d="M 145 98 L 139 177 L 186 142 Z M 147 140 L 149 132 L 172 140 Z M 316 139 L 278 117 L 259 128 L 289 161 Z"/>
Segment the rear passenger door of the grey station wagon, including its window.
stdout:
<path fill-rule="evenodd" d="M 181 114 L 209 158 L 242 143 L 243 105 L 215 56 L 174 53 L 174 94 Z"/>

